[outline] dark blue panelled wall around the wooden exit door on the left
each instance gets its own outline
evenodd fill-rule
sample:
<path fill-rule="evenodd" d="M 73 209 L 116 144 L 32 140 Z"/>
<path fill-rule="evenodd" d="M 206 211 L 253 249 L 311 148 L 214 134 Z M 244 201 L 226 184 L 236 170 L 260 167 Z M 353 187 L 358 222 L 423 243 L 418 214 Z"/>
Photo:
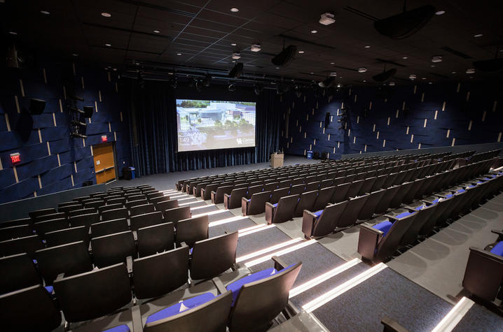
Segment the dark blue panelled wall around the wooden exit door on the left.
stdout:
<path fill-rule="evenodd" d="M 130 160 L 125 98 L 120 95 L 117 75 L 88 68 L 78 62 L 38 62 L 22 70 L 8 68 L 0 91 L 0 203 L 81 187 L 95 180 L 91 145 L 101 136 L 116 141 L 116 164 Z M 86 120 L 88 138 L 70 137 L 69 94 L 85 101 L 78 108 L 95 110 Z M 16 124 L 31 98 L 46 101 L 41 115 L 33 115 L 34 128 L 22 142 Z M 10 154 L 20 152 L 21 163 L 13 166 Z"/>

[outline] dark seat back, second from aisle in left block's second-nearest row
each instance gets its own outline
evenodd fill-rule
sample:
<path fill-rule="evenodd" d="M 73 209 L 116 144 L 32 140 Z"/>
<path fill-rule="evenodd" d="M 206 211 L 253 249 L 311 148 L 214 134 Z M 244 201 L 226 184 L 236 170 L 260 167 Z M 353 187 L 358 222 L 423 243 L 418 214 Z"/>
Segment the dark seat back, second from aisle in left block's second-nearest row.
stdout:
<path fill-rule="evenodd" d="M 188 247 L 180 247 L 133 261 L 133 284 L 137 298 L 167 294 L 188 280 Z"/>

